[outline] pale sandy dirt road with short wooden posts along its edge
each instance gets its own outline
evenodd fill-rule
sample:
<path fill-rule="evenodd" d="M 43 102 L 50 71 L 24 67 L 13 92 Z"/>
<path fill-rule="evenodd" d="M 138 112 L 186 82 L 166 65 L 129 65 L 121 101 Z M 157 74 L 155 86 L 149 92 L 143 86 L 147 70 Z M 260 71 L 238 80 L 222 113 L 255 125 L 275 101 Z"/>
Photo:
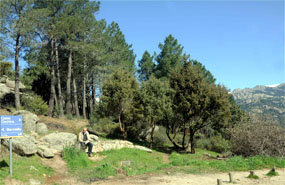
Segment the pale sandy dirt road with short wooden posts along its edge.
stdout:
<path fill-rule="evenodd" d="M 267 177 L 269 169 L 266 170 L 256 170 L 255 174 L 259 176 L 258 180 L 246 178 L 249 172 L 233 172 L 233 178 L 235 184 L 242 185 L 285 185 L 285 169 L 277 169 L 279 176 Z M 217 174 L 170 174 L 170 175 L 157 175 L 157 174 L 147 174 L 135 177 L 126 177 L 122 179 L 105 180 L 100 182 L 95 182 L 95 184 L 104 185 L 216 185 L 217 179 L 222 179 L 223 184 L 230 184 L 229 177 L 227 173 L 217 173 Z"/>

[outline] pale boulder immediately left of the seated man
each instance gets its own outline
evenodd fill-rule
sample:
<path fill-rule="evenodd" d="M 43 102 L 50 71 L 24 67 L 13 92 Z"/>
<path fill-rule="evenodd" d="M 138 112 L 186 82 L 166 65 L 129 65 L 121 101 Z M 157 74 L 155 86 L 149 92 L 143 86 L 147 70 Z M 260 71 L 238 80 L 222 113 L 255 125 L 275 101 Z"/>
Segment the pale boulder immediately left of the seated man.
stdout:
<path fill-rule="evenodd" d="M 40 142 L 46 143 L 48 148 L 54 149 L 57 152 L 62 152 L 64 147 L 76 144 L 77 136 L 67 132 L 55 132 L 42 137 Z"/>

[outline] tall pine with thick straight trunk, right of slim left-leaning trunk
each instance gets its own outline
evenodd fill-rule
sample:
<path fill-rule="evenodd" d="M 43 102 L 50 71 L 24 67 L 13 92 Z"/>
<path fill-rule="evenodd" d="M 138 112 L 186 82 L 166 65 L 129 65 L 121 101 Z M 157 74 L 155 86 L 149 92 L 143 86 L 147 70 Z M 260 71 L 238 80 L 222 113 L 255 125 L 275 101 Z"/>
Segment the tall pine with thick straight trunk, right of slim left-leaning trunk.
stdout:
<path fill-rule="evenodd" d="M 66 49 L 68 50 L 68 65 L 66 74 L 66 114 L 71 114 L 71 74 L 73 58 L 76 50 L 79 49 L 78 35 L 84 34 L 88 28 L 89 19 L 94 18 L 95 12 L 99 10 L 99 3 L 95 1 L 68 1 L 62 10 L 58 24 L 61 38 L 66 41 Z M 77 109 L 77 108 L 76 108 Z"/>

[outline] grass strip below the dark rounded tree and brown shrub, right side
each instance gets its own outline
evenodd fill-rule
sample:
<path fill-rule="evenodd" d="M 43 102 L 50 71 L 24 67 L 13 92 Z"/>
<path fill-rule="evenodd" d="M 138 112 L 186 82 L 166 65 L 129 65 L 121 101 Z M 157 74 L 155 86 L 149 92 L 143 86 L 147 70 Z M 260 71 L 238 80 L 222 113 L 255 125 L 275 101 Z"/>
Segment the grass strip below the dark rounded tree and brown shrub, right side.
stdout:
<path fill-rule="evenodd" d="M 205 157 L 205 153 L 209 152 L 205 150 L 198 150 L 198 152 L 194 155 L 172 153 L 170 155 L 170 164 L 172 166 L 187 167 L 182 168 L 181 170 L 188 173 L 247 171 L 262 168 L 272 168 L 274 166 L 285 168 L 285 158 L 282 159 L 268 156 L 243 158 L 241 156 L 234 156 L 227 160 L 216 160 Z"/>

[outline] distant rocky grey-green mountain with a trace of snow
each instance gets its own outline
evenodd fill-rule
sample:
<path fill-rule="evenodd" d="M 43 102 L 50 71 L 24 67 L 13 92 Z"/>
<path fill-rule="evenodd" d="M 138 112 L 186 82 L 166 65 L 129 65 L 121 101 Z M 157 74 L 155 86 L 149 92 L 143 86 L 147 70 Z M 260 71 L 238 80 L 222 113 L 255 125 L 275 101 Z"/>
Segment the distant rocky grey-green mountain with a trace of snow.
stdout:
<path fill-rule="evenodd" d="M 235 89 L 231 94 L 243 110 L 270 116 L 285 126 L 285 83 Z"/>

